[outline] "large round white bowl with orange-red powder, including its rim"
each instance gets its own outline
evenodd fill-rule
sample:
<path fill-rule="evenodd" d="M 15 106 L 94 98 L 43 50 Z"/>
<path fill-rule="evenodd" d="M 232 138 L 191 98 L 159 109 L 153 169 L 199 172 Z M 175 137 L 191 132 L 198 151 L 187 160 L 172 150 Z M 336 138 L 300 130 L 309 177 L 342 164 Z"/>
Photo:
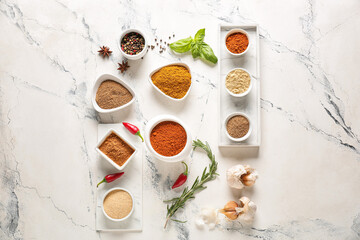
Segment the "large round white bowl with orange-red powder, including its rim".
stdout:
<path fill-rule="evenodd" d="M 156 158 L 165 162 L 179 162 L 190 155 L 192 138 L 188 127 L 172 115 L 152 118 L 145 129 L 145 143 Z"/>

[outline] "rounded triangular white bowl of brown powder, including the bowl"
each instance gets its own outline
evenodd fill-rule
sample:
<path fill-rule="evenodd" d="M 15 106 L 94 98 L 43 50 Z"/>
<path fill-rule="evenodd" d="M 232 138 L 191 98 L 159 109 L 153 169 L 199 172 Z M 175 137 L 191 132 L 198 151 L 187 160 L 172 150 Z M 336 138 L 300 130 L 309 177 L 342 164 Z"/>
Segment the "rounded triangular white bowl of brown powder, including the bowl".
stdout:
<path fill-rule="evenodd" d="M 114 75 L 102 74 L 95 81 L 92 103 L 96 111 L 117 112 L 130 106 L 134 101 L 134 90 Z"/>

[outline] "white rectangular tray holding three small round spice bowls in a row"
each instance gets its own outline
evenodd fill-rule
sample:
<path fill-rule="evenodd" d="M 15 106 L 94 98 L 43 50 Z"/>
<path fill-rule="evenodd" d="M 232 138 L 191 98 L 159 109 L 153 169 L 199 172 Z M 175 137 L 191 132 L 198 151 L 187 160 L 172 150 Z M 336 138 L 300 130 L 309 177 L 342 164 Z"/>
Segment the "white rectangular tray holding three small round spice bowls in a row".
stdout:
<path fill-rule="evenodd" d="M 240 57 L 230 55 L 225 46 L 225 36 L 228 31 L 241 28 L 249 34 L 249 50 Z M 260 119 L 260 49 L 258 25 L 219 25 L 219 84 L 218 84 L 218 140 L 219 147 L 259 147 L 261 143 Z M 225 77 L 234 68 L 244 68 L 252 76 L 253 86 L 250 93 L 243 98 L 235 98 L 227 93 Z M 232 112 L 244 112 L 250 118 L 252 133 L 243 142 L 231 141 L 226 136 L 225 120 Z"/>

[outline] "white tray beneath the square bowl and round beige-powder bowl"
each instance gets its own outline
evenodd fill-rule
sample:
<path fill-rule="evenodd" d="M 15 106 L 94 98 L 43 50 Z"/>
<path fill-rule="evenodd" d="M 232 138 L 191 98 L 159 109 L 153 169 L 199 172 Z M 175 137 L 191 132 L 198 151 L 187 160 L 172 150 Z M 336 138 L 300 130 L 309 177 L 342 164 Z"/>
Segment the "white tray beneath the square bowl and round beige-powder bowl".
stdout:
<path fill-rule="evenodd" d="M 95 228 L 96 231 L 109 232 L 140 232 L 143 227 L 143 196 L 142 196 L 142 175 L 143 175 L 143 144 L 138 136 L 132 135 L 121 123 L 118 124 L 99 124 L 98 141 L 110 130 L 114 129 L 121 136 L 130 141 L 138 152 L 123 170 L 125 174 L 111 183 L 103 183 L 96 190 L 96 211 Z M 100 182 L 107 174 L 119 172 L 110 163 L 99 155 L 97 159 L 97 171 L 95 181 Z M 113 187 L 123 187 L 129 190 L 134 196 L 134 212 L 123 222 L 113 222 L 108 220 L 102 211 L 101 202 L 107 190 Z"/>

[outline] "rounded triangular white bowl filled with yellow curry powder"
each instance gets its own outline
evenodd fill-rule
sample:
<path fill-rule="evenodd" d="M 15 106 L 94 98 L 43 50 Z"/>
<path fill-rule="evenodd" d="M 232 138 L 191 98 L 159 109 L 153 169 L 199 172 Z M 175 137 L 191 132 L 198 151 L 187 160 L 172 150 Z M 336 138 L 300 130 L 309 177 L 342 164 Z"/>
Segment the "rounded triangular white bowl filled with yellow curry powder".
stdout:
<path fill-rule="evenodd" d="M 159 67 L 150 73 L 149 82 L 163 96 L 173 101 L 182 101 L 191 88 L 190 68 L 185 63 Z"/>

